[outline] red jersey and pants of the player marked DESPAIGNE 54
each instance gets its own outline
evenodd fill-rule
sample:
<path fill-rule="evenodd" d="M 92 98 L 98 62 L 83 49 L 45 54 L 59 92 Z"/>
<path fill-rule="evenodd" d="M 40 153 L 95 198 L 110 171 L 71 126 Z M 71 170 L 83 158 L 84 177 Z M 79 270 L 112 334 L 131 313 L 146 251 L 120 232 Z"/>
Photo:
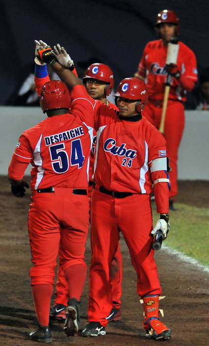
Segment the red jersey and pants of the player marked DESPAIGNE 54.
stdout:
<path fill-rule="evenodd" d="M 78 265 L 84 282 L 86 278 L 90 207 L 86 191 L 95 101 L 83 86 L 74 87 L 71 98 L 70 114 L 48 117 L 21 135 L 9 166 L 9 177 L 21 180 L 29 163 L 32 165 L 31 285 L 54 284 L 59 249 L 64 272 Z M 80 299 L 84 282 L 79 284 L 82 287 L 77 283 L 69 287 L 71 297 Z M 45 323 L 48 325 L 46 319 Z"/>

